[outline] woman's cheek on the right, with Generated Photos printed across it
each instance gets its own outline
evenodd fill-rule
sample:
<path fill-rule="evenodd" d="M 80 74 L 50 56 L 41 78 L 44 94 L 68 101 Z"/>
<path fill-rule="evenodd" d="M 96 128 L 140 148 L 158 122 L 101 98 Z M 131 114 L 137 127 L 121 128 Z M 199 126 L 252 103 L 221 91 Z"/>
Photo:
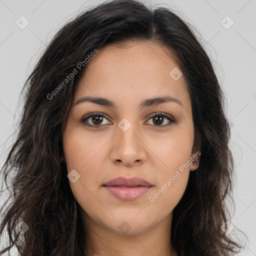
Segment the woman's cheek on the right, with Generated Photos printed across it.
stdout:
<path fill-rule="evenodd" d="M 186 135 L 184 135 L 186 134 Z M 178 135 L 169 134 L 168 138 L 159 139 L 157 145 L 151 144 L 157 158 L 158 167 L 154 190 L 149 194 L 149 201 L 165 214 L 172 210 L 181 199 L 189 177 L 190 155 L 193 136 L 191 132 Z"/>

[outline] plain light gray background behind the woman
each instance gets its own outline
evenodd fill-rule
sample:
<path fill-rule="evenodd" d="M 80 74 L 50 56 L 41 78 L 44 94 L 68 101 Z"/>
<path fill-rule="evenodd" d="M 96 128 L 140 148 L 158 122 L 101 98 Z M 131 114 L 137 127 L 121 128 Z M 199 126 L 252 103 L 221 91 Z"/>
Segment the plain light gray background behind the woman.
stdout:
<path fill-rule="evenodd" d="M 18 102 L 21 87 L 39 54 L 68 19 L 87 6 L 101 2 L 0 0 L 0 166 L 14 139 L 21 112 L 21 102 Z M 144 2 L 149 6 L 157 4 L 171 8 L 188 21 L 195 33 L 200 33 L 199 39 L 212 59 L 227 99 L 226 113 L 233 125 L 230 147 L 236 171 L 233 192 L 235 208 L 230 211 L 231 224 L 235 228 L 229 235 L 236 234 L 236 227 L 241 229 L 249 241 L 239 236 L 246 242 L 246 249 L 239 255 L 256 255 L 256 1 Z M 21 15 L 29 21 L 24 29 L 15 23 L 16 20 L 21 23 Z M 226 18 L 227 15 L 231 19 Z M 232 20 L 234 24 L 229 27 Z M 25 24 L 24 19 L 22 24 Z M 1 194 L 0 204 L 3 198 L 4 194 Z"/>

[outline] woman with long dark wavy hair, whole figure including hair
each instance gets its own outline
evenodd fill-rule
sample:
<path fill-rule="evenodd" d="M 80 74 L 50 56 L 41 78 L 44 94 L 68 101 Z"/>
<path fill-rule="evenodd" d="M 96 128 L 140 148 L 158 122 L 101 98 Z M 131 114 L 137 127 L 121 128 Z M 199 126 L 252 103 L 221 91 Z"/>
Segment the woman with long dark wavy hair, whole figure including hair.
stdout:
<path fill-rule="evenodd" d="M 82 12 L 24 90 L 2 168 L 5 183 L 15 172 L 1 252 L 212 256 L 242 247 L 225 206 L 233 160 L 224 97 L 173 12 L 133 0 Z"/>

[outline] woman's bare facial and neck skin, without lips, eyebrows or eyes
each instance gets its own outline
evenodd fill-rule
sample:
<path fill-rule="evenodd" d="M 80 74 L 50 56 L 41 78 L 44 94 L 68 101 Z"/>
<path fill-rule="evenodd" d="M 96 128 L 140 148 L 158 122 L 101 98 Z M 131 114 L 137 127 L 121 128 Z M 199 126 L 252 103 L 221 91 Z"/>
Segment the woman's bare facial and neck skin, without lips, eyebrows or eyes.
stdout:
<path fill-rule="evenodd" d="M 169 244 L 172 210 L 184 193 L 190 171 L 198 167 L 199 156 L 153 202 L 149 196 L 197 151 L 192 148 L 190 96 L 183 75 L 177 80 L 169 75 L 178 65 L 167 48 L 153 41 L 120 45 L 100 48 L 76 89 L 74 102 L 87 95 L 101 96 L 114 101 L 117 108 L 89 101 L 73 104 L 63 128 L 63 150 L 67 172 L 75 169 L 80 177 L 69 184 L 89 237 L 85 241 L 88 255 L 174 256 Z M 165 102 L 139 108 L 141 100 L 166 95 L 183 106 Z M 100 122 L 92 116 L 87 122 L 94 126 L 88 127 L 81 119 L 92 112 L 108 118 L 102 116 Z M 155 112 L 170 115 L 176 123 L 165 117 L 162 123 L 155 122 L 149 116 Z M 131 124 L 126 131 L 118 126 L 123 118 Z M 138 176 L 153 187 L 137 199 L 121 200 L 102 186 L 119 176 Z M 130 228 L 125 233 L 118 228 L 123 221 Z"/>

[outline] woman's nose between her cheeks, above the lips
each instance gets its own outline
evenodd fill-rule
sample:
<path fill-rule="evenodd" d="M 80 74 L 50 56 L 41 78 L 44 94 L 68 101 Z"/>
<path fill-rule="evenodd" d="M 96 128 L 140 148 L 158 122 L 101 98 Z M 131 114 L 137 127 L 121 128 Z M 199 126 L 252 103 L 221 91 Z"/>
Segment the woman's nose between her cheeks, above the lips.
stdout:
<path fill-rule="evenodd" d="M 110 152 L 113 163 L 125 166 L 140 165 L 146 159 L 145 150 L 146 146 L 135 124 L 127 130 L 117 127 Z"/>

